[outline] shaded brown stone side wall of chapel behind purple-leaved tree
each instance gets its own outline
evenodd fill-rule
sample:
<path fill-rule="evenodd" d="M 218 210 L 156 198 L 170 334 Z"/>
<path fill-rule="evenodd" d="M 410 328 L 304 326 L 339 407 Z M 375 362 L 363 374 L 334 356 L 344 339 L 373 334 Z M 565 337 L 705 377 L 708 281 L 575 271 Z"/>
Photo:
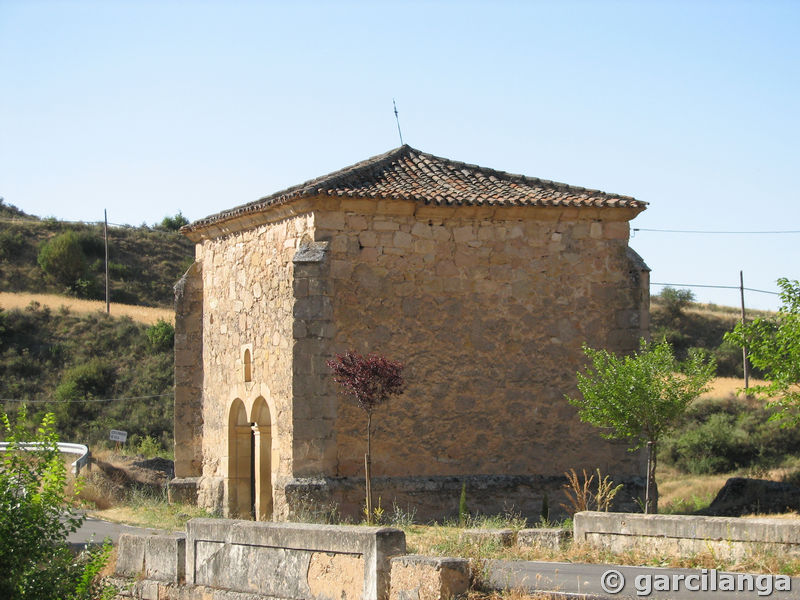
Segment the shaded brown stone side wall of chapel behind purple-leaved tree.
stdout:
<path fill-rule="evenodd" d="M 646 278 L 624 209 L 434 208 L 329 201 L 332 350 L 406 364 L 406 392 L 373 418 L 373 475 L 635 474 L 638 457 L 582 424 L 581 345 L 646 335 Z M 363 470 L 365 416 L 340 401 L 335 475 Z M 333 473 L 328 473 L 333 475 Z"/>

